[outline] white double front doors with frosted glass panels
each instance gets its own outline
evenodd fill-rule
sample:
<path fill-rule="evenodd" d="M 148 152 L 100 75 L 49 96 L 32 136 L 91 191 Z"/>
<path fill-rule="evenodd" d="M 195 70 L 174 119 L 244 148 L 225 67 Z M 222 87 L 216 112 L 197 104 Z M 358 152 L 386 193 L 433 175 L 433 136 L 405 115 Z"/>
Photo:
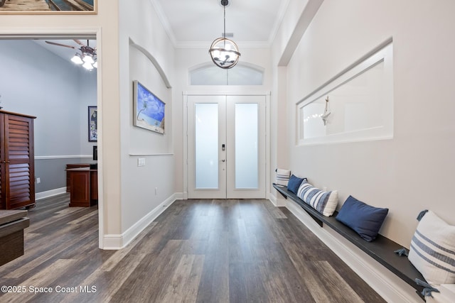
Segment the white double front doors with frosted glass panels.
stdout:
<path fill-rule="evenodd" d="M 265 198 L 265 96 L 188 96 L 188 198 Z"/>

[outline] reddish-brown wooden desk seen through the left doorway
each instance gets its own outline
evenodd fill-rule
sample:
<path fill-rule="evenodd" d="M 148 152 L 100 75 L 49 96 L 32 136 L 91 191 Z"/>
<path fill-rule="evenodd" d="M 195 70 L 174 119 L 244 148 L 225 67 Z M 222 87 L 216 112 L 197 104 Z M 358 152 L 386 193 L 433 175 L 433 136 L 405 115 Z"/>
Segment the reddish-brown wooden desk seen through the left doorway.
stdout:
<path fill-rule="evenodd" d="M 98 203 L 98 170 L 70 168 L 70 207 L 90 207 Z"/>

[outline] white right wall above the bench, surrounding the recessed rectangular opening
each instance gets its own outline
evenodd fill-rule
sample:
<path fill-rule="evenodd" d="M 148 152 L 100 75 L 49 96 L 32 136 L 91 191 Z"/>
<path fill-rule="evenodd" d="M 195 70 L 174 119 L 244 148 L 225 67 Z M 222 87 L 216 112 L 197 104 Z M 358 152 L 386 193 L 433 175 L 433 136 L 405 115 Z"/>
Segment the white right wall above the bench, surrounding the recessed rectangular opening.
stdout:
<path fill-rule="evenodd" d="M 455 182 L 453 11 L 449 0 L 325 0 L 287 65 L 291 170 L 338 189 L 341 203 L 352 194 L 389 208 L 382 233 L 406 247 L 422 209 L 455 224 L 447 194 Z M 296 102 L 390 37 L 394 138 L 296 147 Z"/>

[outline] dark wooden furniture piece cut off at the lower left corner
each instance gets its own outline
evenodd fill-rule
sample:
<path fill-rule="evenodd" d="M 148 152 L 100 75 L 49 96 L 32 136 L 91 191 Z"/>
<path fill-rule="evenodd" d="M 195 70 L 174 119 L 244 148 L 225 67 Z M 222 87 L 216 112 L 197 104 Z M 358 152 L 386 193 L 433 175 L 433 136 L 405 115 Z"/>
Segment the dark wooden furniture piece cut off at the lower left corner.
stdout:
<path fill-rule="evenodd" d="M 27 211 L 0 210 L 0 266 L 23 255 L 23 229 L 29 225 Z"/>

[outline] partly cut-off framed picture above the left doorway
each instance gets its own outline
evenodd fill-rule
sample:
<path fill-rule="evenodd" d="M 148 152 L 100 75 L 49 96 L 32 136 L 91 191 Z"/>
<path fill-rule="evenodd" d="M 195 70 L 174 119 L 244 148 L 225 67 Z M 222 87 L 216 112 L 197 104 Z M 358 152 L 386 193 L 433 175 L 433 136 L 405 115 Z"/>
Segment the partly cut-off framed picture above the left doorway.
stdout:
<path fill-rule="evenodd" d="M 0 0 L 0 14 L 96 14 L 98 0 Z"/>

